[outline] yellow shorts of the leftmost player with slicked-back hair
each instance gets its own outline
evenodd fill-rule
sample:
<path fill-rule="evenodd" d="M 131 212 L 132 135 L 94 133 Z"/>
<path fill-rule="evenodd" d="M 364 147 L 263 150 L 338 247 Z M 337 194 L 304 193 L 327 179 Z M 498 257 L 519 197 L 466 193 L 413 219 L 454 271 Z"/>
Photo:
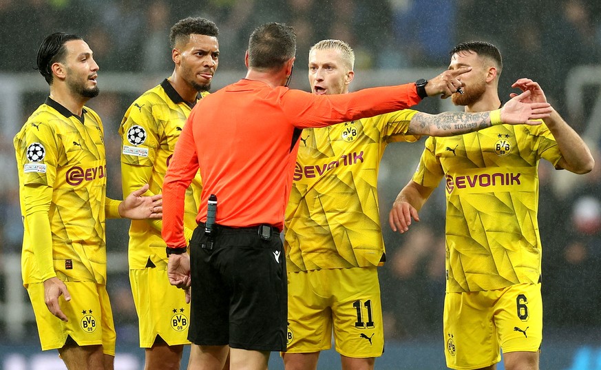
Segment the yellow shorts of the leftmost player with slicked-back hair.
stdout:
<path fill-rule="evenodd" d="M 44 285 L 29 284 L 27 292 L 32 302 L 42 350 L 59 349 L 70 336 L 79 346 L 102 345 L 103 353 L 115 356 L 115 327 L 109 295 L 105 285 L 95 282 L 65 282 L 71 300 L 59 297 L 64 322 L 52 315 L 44 302 Z"/>

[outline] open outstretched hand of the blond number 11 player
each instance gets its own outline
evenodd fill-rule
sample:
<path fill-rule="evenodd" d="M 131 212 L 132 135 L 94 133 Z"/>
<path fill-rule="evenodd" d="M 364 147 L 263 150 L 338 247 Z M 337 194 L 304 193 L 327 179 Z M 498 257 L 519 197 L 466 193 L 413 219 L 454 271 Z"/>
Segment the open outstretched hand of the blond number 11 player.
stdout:
<path fill-rule="evenodd" d="M 538 84 L 537 84 L 538 85 Z M 503 123 L 528 125 L 540 125 L 536 119 L 545 119 L 551 115 L 549 103 L 528 103 L 531 100 L 531 90 L 525 90 L 522 94 L 514 96 L 501 108 L 500 119 Z"/>

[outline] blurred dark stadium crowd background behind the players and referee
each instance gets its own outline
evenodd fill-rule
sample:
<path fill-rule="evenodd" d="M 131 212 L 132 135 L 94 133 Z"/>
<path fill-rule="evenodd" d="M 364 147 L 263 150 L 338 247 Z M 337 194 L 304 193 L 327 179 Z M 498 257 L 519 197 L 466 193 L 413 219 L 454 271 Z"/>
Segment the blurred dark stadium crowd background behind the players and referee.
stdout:
<path fill-rule="evenodd" d="M 136 96 L 173 69 L 168 33 L 178 19 L 207 17 L 220 28 L 220 66 L 213 90 L 244 76 L 244 50 L 255 26 L 293 25 L 298 37 L 293 87 L 308 90 L 310 45 L 324 38 L 355 49 L 352 89 L 432 77 L 448 65 L 448 50 L 473 39 L 500 48 L 500 94 L 527 76 L 595 151 L 591 174 L 571 176 L 540 166 L 545 340 L 542 368 L 601 369 L 601 3 L 585 0 L 0 0 L 0 369 L 62 369 L 55 352 L 41 354 L 32 311 L 21 287 L 22 224 L 12 137 L 48 94 L 34 71 L 46 34 L 80 34 L 100 65 L 101 94 L 89 101 L 103 119 L 109 195 L 120 198 L 117 127 Z M 451 110 L 428 99 L 419 110 Z M 423 145 L 391 145 L 380 174 L 387 247 L 380 269 L 386 353 L 378 369 L 443 368 L 444 195 L 437 190 L 421 223 L 400 236 L 388 211 L 410 178 Z M 117 369 L 140 369 L 137 319 L 127 280 L 127 222 L 108 222 L 109 293 L 118 331 Z M 330 351 L 331 352 L 331 351 Z M 58 361 L 57 365 L 54 363 Z M 182 367 L 183 368 L 183 367 Z M 270 369 L 281 369 L 277 354 Z M 339 369 L 335 353 L 319 368 Z M 500 367 L 502 368 L 502 367 Z"/>

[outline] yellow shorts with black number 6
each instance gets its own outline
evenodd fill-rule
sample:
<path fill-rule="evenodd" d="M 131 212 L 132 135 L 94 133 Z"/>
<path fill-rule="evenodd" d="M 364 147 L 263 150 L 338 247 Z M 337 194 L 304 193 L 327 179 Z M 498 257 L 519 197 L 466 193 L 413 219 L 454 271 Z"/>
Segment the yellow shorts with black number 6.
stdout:
<path fill-rule="evenodd" d="M 540 284 L 491 291 L 447 293 L 445 358 L 452 369 L 479 369 L 504 353 L 536 352 L 542 342 Z"/>

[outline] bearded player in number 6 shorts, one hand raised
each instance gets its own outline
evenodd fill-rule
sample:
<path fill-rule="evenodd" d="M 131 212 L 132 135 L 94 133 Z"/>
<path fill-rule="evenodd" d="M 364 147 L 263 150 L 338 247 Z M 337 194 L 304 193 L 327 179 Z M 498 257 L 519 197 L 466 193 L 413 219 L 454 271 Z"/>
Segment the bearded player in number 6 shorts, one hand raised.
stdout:
<path fill-rule="evenodd" d="M 482 41 L 451 51 L 450 70 L 472 67 L 458 77 L 453 94 L 465 112 L 502 105 L 497 88 L 500 52 Z M 546 102 L 538 83 L 512 85 Z M 512 94 L 514 96 L 515 94 Z M 390 211 L 394 231 L 407 232 L 411 218 L 445 178 L 446 276 L 444 339 L 452 369 L 495 369 L 503 349 L 505 369 L 538 369 L 542 341 L 538 162 L 576 174 L 594 161 L 582 138 L 553 110 L 538 126 L 499 125 L 461 136 L 430 137 L 412 181 Z"/>

